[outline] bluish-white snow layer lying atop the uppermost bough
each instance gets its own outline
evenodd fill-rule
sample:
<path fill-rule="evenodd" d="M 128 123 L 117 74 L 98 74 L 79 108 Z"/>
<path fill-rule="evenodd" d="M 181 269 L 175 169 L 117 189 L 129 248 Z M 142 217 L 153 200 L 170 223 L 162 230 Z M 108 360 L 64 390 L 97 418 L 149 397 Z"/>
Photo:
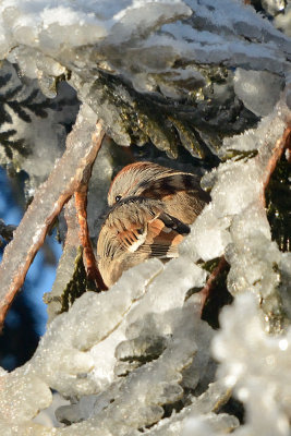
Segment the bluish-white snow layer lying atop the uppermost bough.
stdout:
<path fill-rule="evenodd" d="M 154 47 L 163 46 L 163 52 L 167 52 L 167 47 L 172 47 L 177 56 L 183 53 L 191 57 L 191 51 L 194 50 L 195 58 L 199 62 L 209 62 L 210 57 L 214 57 L 214 62 L 217 62 L 219 58 L 226 61 L 227 53 L 228 58 L 232 59 L 232 64 L 235 60 L 242 63 L 244 57 L 245 60 L 252 58 L 252 61 L 256 62 L 257 57 L 257 69 L 260 69 L 259 59 L 265 58 L 268 66 L 278 72 L 284 64 L 284 51 L 290 56 L 290 41 L 287 37 L 275 29 L 270 23 L 259 19 L 252 8 L 230 0 L 219 0 L 215 4 L 208 0 L 185 2 L 128 0 L 118 3 L 109 1 L 106 8 L 102 1 L 92 1 L 84 7 L 80 1 L 69 0 L 62 2 L 61 5 L 56 5 L 53 1 L 5 0 L 1 4 L 0 16 L 2 19 L 0 35 L 3 41 L 2 57 L 9 48 L 21 44 L 38 49 L 54 59 L 59 58 L 61 63 L 65 63 L 65 49 L 95 44 L 100 60 L 104 58 L 104 48 L 112 50 L 113 65 L 117 58 L 119 61 L 122 60 L 113 50 L 114 47 L 128 46 L 129 51 L 133 53 L 133 35 L 143 41 L 147 52 L 151 49 L 153 56 Z M 190 21 L 186 25 L 182 25 L 181 19 L 190 19 Z M 174 24 L 167 24 L 168 22 Z M 205 31 L 197 33 L 195 25 L 198 26 L 201 23 L 204 24 Z M 160 26 L 162 26 L 161 34 L 154 34 L 153 31 Z M 219 28 L 225 29 L 223 38 L 217 32 Z M 214 34 L 210 34 L 211 32 Z M 234 35 L 238 38 L 235 44 L 233 43 Z M 255 44 L 245 44 L 243 38 L 240 41 L 240 37 L 243 36 L 262 43 L 259 49 Z M 270 40 L 280 43 L 282 51 L 276 52 L 278 48 L 269 44 Z M 217 50 L 218 47 L 219 50 Z M 142 52 L 141 46 L 138 50 Z M 169 51 L 169 59 L 172 57 L 171 51 Z M 131 69 L 131 63 L 126 66 L 126 62 L 132 58 L 132 53 L 125 58 L 124 51 L 122 53 L 123 72 Z M 21 52 L 19 56 L 21 57 Z M 109 52 L 107 56 L 110 59 Z M 155 57 L 155 59 L 158 58 Z M 148 69 L 150 57 L 144 60 Z M 25 65 L 28 66 L 27 60 Z M 153 65 L 157 70 L 158 63 L 153 62 Z"/>

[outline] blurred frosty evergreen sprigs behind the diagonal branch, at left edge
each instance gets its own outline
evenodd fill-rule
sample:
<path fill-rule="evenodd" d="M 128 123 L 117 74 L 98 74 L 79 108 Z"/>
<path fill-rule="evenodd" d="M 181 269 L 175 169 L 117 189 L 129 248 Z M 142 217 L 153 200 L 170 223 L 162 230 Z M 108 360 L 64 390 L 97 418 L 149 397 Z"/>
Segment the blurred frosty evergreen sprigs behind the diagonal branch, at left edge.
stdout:
<path fill-rule="evenodd" d="M 64 124 L 75 121 L 80 105 L 75 92 L 65 83 L 59 86 L 57 98 L 46 98 L 36 80 L 23 80 L 17 68 L 8 61 L 0 70 L 0 89 L 3 101 L 0 161 L 1 165 L 12 161 L 15 170 L 26 171 L 33 191 L 61 157 L 65 148 Z"/>

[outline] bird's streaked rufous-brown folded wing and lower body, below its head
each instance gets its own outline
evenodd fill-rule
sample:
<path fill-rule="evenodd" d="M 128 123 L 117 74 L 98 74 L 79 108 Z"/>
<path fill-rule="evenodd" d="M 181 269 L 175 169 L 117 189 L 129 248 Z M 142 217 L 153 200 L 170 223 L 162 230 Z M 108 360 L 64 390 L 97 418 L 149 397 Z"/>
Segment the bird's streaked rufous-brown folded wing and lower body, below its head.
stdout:
<path fill-rule="evenodd" d="M 187 226 L 166 214 L 162 203 L 126 198 L 109 211 L 97 243 L 100 274 L 109 287 L 122 271 L 148 257 L 175 257 Z"/>

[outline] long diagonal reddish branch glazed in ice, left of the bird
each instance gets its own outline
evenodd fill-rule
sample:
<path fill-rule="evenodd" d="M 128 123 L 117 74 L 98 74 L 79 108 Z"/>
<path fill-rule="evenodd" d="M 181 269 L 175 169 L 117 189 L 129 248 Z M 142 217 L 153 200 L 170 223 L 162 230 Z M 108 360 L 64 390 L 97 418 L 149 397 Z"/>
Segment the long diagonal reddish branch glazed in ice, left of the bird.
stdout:
<path fill-rule="evenodd" d="M 78 190 L 84 172 L 97 156 L 102 137 L 101 124 L 98 122 L 94 126 L 81 110 L 74 129 L 68 135 L 66 150 L 48 180 L 37 190 L 14 232 L 13 241 L 4 251 L 0 265 L 0 328 L 50 225 L 64 203 Z"/>

